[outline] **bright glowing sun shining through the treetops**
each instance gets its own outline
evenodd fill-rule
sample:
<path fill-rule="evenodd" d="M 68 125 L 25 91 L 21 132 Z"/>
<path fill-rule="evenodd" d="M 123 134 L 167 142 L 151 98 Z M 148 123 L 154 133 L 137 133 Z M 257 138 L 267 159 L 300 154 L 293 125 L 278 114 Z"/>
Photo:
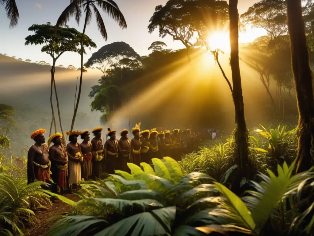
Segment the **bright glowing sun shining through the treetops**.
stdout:
<path fill-rule="evenodd" d="M 220 49 L 223 52 L 230 52 L 230 39 L 228 31 L 212 31 L 207 37 L 208 47 L 211 51 Z"/>

